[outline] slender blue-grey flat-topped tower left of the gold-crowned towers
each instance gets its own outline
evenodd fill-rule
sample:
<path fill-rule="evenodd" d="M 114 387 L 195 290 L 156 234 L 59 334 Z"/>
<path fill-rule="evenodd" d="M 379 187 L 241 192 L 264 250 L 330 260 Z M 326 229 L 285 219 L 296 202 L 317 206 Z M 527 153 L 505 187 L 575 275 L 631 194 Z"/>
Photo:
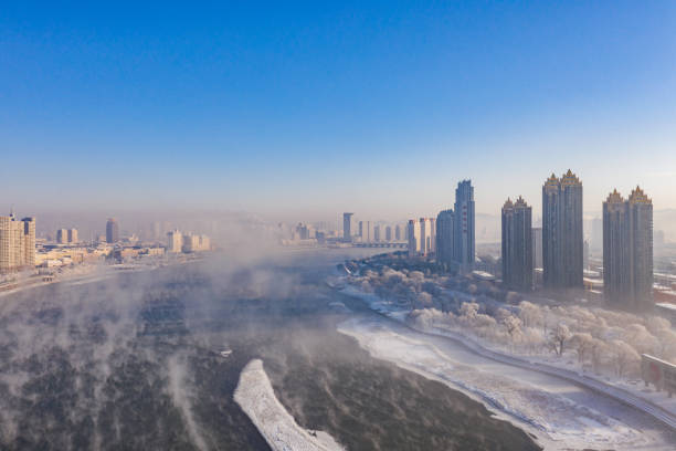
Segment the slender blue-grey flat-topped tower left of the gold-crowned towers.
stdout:
<path fill-rule="evenodd" d="M 475 259 L 474 187 L 463 180 L 455 189 L 454 260 L 463 271 L 472 270 Z"/>

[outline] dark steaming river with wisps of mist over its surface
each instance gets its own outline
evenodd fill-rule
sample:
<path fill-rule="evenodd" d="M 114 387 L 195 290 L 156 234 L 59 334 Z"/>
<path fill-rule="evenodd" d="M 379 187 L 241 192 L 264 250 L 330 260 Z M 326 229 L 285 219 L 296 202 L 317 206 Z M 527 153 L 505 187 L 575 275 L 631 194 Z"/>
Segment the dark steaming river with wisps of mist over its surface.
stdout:
<path fill-rule="evenodd" d="M 261 358 L 296 421 L 348 449 L 535 449 L 336 332 L 330 302 L 363 308 L 323 283 L 348 252 L 230 254 L 0 297 L 0 448 L 268 449 L 233 400 Z"/>

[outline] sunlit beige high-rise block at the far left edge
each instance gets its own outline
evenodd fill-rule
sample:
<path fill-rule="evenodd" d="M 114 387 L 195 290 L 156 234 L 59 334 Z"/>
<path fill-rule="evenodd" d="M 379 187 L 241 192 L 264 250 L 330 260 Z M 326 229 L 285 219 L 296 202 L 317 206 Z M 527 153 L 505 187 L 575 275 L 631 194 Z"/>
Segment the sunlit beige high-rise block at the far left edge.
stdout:
<path fill-rule="evenodd" d="M 35 266 L 35 219 L 0 217 L 0 273 Z"/>

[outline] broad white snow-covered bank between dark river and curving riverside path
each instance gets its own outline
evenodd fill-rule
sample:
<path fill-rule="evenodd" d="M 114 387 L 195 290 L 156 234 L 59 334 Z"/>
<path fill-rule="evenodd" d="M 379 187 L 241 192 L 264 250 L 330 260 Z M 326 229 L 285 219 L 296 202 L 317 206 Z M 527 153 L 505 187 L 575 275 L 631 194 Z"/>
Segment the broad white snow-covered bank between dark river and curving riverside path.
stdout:
<path fill-rule="evenodd" d="M 672 449 L 669 437 L 642 413 L 559 378 L 484 358 L 381 316 L 348 319 L 339 331 L 376 358 L 483 401 L 546 449 Z"/>

